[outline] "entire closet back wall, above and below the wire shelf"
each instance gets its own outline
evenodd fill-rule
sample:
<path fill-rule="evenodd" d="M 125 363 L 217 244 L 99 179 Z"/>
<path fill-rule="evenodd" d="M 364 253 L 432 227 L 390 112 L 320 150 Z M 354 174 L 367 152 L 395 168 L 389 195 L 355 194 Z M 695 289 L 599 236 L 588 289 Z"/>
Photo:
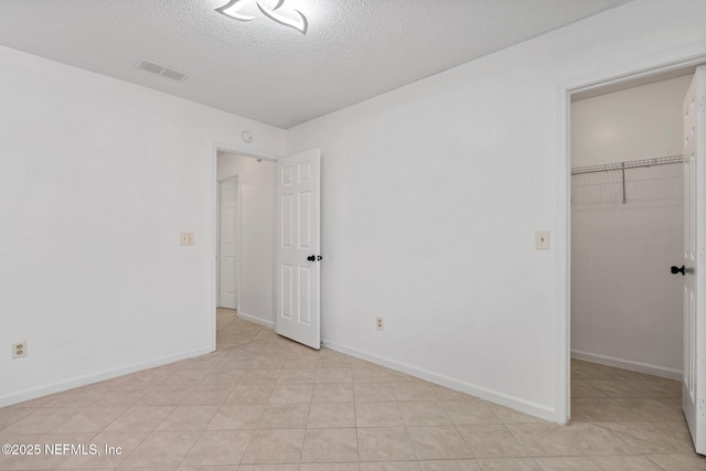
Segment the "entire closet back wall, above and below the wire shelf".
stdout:
<path fill-rule="evenodd" d="M 571 159 L 579 165 L 682 153 L 691 76 L 576 101 Z M 574 356 L 681 378 L 682 165 L 571 178 Z"/>

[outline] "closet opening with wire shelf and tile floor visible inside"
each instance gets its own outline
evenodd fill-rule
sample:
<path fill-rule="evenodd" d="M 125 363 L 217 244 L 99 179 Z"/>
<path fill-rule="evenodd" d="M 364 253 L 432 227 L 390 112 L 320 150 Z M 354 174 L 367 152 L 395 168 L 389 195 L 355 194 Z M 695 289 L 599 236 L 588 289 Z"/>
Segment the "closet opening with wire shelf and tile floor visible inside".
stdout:
<path fill-rule="evenodd" d="M 691 81 L 573 96 L 571 421 L 682 420 Z"/>

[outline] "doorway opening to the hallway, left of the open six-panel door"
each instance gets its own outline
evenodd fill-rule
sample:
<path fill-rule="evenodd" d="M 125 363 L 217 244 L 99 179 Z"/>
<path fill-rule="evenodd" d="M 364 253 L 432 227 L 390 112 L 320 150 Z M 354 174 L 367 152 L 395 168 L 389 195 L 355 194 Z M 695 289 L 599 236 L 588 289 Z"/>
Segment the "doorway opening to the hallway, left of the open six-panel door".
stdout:
<path fill-rule="evenodd" d="M 274 325 L 275 174 L 274 159 L 217 151 L 216 350 Z"/>

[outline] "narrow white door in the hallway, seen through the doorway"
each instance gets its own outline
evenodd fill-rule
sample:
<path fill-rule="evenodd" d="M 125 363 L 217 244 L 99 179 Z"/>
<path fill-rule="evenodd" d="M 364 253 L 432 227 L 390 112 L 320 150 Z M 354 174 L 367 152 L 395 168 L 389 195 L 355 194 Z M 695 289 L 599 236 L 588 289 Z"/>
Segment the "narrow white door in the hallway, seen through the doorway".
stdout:
<path fill-rule="evenodd" d="M 220 184 L 218 306 L 238 307 L 238 181 Z"/>

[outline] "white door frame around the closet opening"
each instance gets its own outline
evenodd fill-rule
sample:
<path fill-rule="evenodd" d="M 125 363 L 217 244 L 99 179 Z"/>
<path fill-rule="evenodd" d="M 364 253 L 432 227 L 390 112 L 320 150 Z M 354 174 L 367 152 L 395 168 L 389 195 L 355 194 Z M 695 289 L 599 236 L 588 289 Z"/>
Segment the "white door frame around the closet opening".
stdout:
<path fill-rule="evenodd" d="M 571 95 L 674 72 L 706 63 L 704 44 L 692 44 L 630 61 L 609 69 L 595 71 L 557 84 L 557 319 L 556 319 L 556 403 L 555 421 L 568 424 L 571 417 Z"/>

